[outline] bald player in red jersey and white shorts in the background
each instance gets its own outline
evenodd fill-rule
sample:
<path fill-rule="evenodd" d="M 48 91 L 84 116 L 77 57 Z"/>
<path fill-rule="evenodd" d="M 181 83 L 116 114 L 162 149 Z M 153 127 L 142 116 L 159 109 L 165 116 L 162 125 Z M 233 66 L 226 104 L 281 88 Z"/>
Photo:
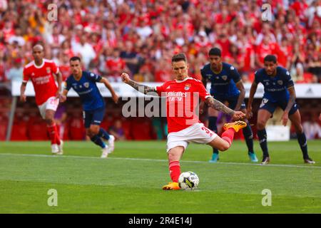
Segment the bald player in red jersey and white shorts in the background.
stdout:
<path fill-rule="evenodd" d="M 63 142 L 59 138 L 54 115 L 59 104 L 59 92 L 61 90 L 62 76 L 54 61 L 44 58 L 44 47 L 36 44 L 32 48 L 34 61 L 24 67 L 24 79 L 20 88 L 20 100 L 26 102 L 26 83 L 29 79 L 34 85 L 36 104 L 38 105 L 41 117 L 46 120 L 47 130 L 51 139 L 51 152 L 63 154 Z M 57 78 L 56 86 L 54 75 Z"/>

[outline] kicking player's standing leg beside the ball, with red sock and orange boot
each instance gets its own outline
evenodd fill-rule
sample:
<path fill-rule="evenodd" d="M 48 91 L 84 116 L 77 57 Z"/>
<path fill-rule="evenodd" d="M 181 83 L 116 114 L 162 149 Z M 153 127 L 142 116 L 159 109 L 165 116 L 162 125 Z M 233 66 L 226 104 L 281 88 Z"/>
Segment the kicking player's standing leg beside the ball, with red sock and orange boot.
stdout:
<path fill-rule="evenodd" d="M 170 171 L 170 179 L 168 185 L 163 186 L 163 190 L 180 190 L 178 185 L 178 177 L 180 177 L 180 157 L 184 152 L 183 146 L 176 146 L 168 151 L 168 166 Z"/>

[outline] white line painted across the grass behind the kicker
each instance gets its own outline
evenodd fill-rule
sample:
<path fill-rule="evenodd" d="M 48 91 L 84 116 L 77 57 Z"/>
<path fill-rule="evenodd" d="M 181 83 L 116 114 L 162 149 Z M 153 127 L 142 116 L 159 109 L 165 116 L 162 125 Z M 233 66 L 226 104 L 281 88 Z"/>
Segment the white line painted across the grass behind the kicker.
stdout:
<path fill-rule="evenodd" d="M 76 156 L 76 155 L 35 155 L 35 154 L 13 154 L 13 153 L 0 153 L 0 155 L 7 156 L 24 156 L 24 157 L 69 157 L 69 158 L 84 158 L 84 159 L 98 159 L 103 160 L 101 157 L 89 157 L 89 156 Z M 151 158 L 134 158 L 134 157 L 108 157 L 107 160 L 138 160 L 138 161 L 148 161 L 148 162 L 168 162 L 165 159 L 151 159 Z M 185 163 L 203 163 L 209 164 L 209 162 L 204 161 L 188 161 L 182 160 L 181 162 Z M 295 168 L 313 168 L 321 169 L 320 166 L 307 166 L 307 165 L 284 165 L 284 164 L 269 164 L 269 165 L 260 165 L 254 163 L 245 163 L 245 162 L 218 162 L 212 165 L 256 165 L 260 167 L 295 167 Z"/>

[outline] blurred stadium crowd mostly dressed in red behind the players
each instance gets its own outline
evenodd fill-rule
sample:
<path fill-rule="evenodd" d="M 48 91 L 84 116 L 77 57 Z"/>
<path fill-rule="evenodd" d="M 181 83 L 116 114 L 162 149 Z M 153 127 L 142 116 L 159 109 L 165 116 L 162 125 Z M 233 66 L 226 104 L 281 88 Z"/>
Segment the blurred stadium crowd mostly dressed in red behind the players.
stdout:
<path fill-rule="evenodd" d="M 110 81 L 120 81 L 121 71 L 136 81 L 168 81 L 170 56 L 178 52 L 200 78 L 209 48 L 217 46 L 245 82 L 253 81 L 267 53 L 296 83 L 321 81 L 320 0 L 55 2 L 57 21 L 48 21 L 52 1 L 0 0 L 0 82 L 17 80 L 38 42 L 64 78 L 68 58 L 80 55 L 84 68 Z M 264 3 L 272 6 L 272 21 L 261 19 Z"/>

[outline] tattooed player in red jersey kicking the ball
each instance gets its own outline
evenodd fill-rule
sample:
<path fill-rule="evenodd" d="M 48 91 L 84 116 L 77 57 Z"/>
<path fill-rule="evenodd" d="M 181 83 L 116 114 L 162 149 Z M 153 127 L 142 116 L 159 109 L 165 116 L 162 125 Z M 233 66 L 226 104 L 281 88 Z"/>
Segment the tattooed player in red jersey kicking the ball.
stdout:
<path fill-rule="evenodd" d="M 121 74 L 123 82 L 136 90 L 144 94 L 156 92 L 159 96 L 166 97 L 168 120 L 167 153 L 170 178 L 173 182 L 163 186 L 163 190 L 180 189 L 178 185 L 180 158 L 189 142 L 208 144 L 221 151 L 228 150 L 233 141 L 234 133 L 246 127 L 246 123 L 243 121 L 227 123 L 224 125 L 225 132 L 222 134 L 222 138 L 212 130 L 205 128 L 203 123 L 200 123 L 198 115 L 195 114 L 199 98 L 204 100 L 210 107 L 231 115 L 234 120 L 245 118 L 245 114 L 240 111 L 234 111 L 220 103 L 220 101 L 215 100 L 201 81 L 190 78 L 185 54 L 178 53 L 173 56 L 172 69 L 175 80 L 167 81 L 162 86 L 156 86 L 156 88 L 143 86 L 132 81 L 127 73 Z"/>

